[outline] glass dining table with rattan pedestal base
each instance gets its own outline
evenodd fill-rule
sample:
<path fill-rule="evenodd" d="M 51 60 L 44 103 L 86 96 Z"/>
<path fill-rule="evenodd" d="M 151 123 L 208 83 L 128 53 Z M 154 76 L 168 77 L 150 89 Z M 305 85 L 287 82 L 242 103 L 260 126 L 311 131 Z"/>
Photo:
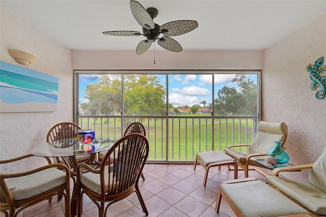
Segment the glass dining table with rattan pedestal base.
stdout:
<path fill-rule="evenodd" d="M 88 144 L 79 142 L 77 138 L 61 139 L 40 144 L 30 150 L 30 153 L 39 157 L 61 158 L 70 169 L 70 177 L 73 180 L 73 191 L 71 195 L 71 215 L 77 214 L 77 190 L 76 190 L 76 168 L 78 162 L 84 162 L 92 167 L 98 166 L 98 153 L 110 150 L 114 140 L 105 138 L 94 138 Z M 78 161 L 78 156 L 89 155 L 86 160 Z"/>

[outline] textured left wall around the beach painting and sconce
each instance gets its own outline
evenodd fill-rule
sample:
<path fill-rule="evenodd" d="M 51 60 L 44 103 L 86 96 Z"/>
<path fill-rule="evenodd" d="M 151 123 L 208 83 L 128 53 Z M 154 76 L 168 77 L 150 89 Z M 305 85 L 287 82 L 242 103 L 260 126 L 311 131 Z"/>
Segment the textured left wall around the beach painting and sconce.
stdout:
<path fill-rule="evenodd" d="M 59 78 L 56 112 L 0 113 L 0 159 L 3 160 L 29 154 L 32 147 L 45 142 L 50 127 L 59 122 L 73 121 L 73 71 L 69 49 L 39 32 L 31 23 L 17 18 L 3 6 L 0 20 L 1 61 L 25 67 L 15 62 L 8 49 L 28 52 L 37 57 L 37 61 L 28 66 L 29 69 Z M 10 172 L 11 167 L 0 168 L 0 173 L 4 170 Z"/>

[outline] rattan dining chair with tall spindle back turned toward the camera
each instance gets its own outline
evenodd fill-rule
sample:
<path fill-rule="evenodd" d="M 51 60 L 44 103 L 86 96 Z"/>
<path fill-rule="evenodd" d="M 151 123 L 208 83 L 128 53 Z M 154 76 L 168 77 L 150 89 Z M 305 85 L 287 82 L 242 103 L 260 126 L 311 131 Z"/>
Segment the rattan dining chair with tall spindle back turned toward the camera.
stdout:
<path fill-rule="evenodd" d="M 99 217 L 106 216 L 107 208 L 133 192 L 138 196 L 143 211 L 148 215 L 145 202 L 138 185 L 148 157 L 147 138 L 139 133 L 131 133 L 119 139 L 106 153 L 101 164 L 95 168 L 86 163 L 77 165 L 78 211 L 82 215 L 83 194 L 98 207 Z M 82 173 L 88 170 L 88 173 Z M 109 202 L 105 205 L 106 202 Z"/>

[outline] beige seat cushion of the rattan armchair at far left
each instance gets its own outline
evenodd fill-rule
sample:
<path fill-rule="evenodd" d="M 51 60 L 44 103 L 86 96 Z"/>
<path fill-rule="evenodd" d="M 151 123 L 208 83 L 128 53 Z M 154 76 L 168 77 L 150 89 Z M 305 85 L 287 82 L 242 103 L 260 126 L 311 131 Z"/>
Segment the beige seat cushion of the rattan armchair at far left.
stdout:
<path fill-rule="evenodd" d="M 5 179 L 13 200 L 22 200 L 39 195 L 47 190 L 66 183 L 66 173 L 57 168 Z"/>

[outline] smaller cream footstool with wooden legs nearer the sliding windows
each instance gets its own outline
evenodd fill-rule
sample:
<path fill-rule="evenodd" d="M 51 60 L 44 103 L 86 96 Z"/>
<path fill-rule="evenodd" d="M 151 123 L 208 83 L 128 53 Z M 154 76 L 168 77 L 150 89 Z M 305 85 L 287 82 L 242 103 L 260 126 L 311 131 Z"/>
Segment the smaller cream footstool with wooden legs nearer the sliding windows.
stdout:
<path fill-rule="evenodd" d="M 200 164 L 204 167 L 205 169 L 205 177 L 204 177 L 204 182 L 203 185 L 206 186 L 207 182 L 207 176 L 208 176 L 208 171 L 210 167 L 213 166 L 219 166 L 219 170 L 221 170 L 221 166 L 223 165 L 233 165 L 234 166 L 234 179 L 238 178 L 238 166 L 236 162 L 225 154 L 222 151 L 207 151 L 207 152 L 199 152 L 196 155 L 195 159 L 195 164 L 194 164 L 194 170 L 196 170 L 196 165 L 197 161 L 200 162 Z"/>

